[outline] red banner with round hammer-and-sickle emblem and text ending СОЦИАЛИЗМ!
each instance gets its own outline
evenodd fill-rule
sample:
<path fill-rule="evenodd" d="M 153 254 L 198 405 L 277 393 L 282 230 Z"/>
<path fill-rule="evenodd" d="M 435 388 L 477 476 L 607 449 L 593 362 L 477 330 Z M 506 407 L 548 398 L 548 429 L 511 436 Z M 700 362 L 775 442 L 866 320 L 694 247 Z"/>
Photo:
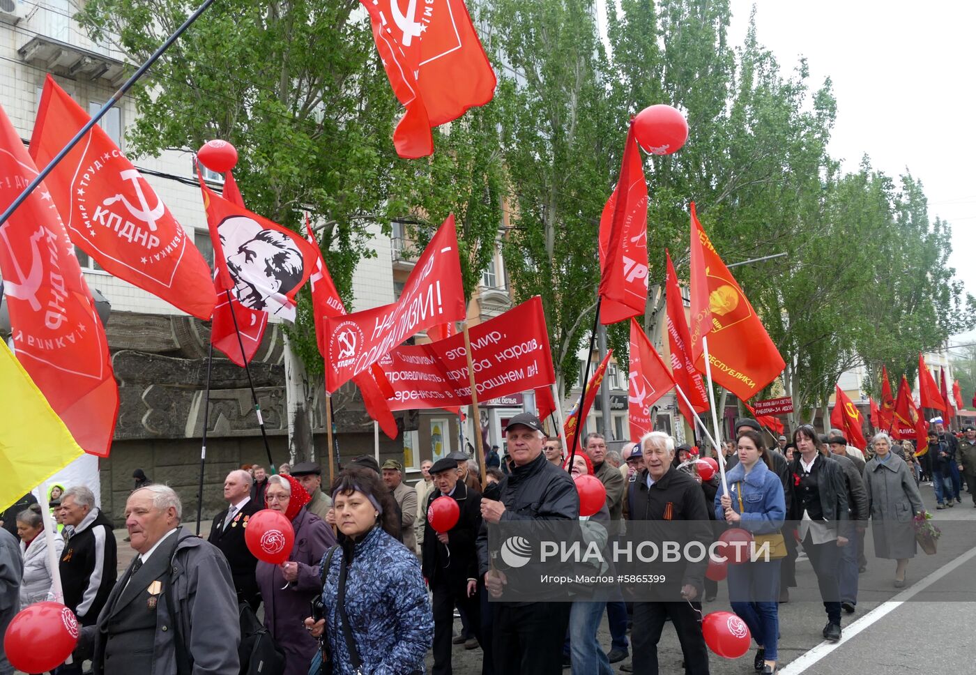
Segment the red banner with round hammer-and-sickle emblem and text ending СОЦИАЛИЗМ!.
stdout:
<path fill-rule="evenodd" d="M 389 305 L 326 319 L 325 389 L 335 392 L 420 330 L 467 314 L 458 234 L 448 216 Z"/>

